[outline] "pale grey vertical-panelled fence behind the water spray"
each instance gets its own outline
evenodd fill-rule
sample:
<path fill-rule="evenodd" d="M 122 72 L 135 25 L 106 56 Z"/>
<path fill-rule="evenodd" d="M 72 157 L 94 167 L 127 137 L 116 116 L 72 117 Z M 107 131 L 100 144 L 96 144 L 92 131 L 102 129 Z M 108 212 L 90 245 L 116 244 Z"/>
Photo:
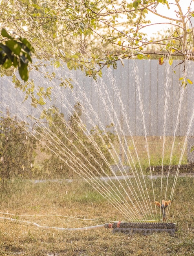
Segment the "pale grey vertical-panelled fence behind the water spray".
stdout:
<path fill-rule="evenodd" d="M 34 80 L 36 88 L 53 86 L 52 101 L 45 106 L 55 105 L 64 113 L 66 119 L 79 101 L 85 108 L 83 122 L 90 128 L 93 126 L 91 120 L 100 128 L 105 128 L 113 122 L 118 129 L 122 128 L 126 135 L 162 136 L 166 119 L 165 135 L 173 136 L 178 120 L 175 135 L 183 136 L 187 132 L 194 108 L 194 85 L 188 83 L 183 90 L 179 78 L 183 76 L 184 67 L 183 64 L 178 64 L 179 61 L 173 61 L 170 66 L 168 61 L 159 65 L 157 60 L 125 60 L 123 67 L 119 61 L 117 70 L 112 67 L 105 68 L 102 79 L 97 81 L 86 77 L 80 70 L 70 72 L 65 68 L 55 69 L 56 76 L 62 74 L 73 77 L 73 90 L 60 87 L 60 82 L 56 79 L 50 81 L 44 75 L 37 75 L 37 72 L 32 71 L 30 79 Z M 194 82 L 194 63 L 188 61 L 186 69 L 188 78 Z M 42 71 L 53 72 L 53 67 L 42 67 Z M 183 97 L 180 105 L 181 94 Z M 22 119 L 25 119 L 26 115 L 38 117 L 40 112 L 37 113 L 37 109 L 31 106 L 30 99 L 22 103 L 24 97 L 19 89 L 14 88 L 11 77 L 0 78 L 2 113 L 6 113 L 6 108 L 9 108 L 13 115 Z M 189 136 L 194 136 L 194 124 Z"/>

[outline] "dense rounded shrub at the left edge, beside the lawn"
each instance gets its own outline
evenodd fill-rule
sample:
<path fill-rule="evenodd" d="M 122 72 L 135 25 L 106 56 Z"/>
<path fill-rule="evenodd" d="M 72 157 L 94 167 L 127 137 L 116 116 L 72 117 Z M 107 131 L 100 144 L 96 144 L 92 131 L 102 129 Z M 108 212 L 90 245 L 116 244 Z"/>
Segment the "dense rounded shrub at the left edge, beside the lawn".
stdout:
<path fill-rule="evenodd" d="M 31 173 L 35 159 L 35 139 L 26 124 L 7 117 L 0 120 L 0 178 L 26 177 Z"/>

